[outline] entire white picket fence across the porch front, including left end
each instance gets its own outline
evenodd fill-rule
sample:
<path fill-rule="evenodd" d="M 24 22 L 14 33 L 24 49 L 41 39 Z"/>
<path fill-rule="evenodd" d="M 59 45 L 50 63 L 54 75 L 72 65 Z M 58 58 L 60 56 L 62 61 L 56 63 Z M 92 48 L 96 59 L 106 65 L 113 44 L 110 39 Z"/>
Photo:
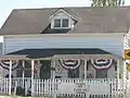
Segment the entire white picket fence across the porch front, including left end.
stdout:
<path fill-rule="evenodd" d="M 32 85 L 31 85 L 32 83 Z M 122 79 L 104 78 L 58 78 L 58 79 L 34 79 L 12 78 L 12 94 L 15 88 L 25 88 L 25 94 L 32 87 L 32 96 L 63 96 L 86 98 L 112 98 L 122 96 L 130 90 L 130 82 Z M 9 94 L 9 78 L 0 79 L 0 94 Z"/>

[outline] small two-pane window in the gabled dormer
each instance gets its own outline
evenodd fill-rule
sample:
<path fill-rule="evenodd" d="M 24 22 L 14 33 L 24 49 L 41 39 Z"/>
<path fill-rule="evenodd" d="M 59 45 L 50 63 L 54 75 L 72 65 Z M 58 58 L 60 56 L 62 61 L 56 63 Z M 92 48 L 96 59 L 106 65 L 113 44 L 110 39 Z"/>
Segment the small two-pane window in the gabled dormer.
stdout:
<path fill-rule="evenodd" d="M 66 28 L 68 27 L 68 19 L 55 19 L 54 20 L 54 28 Z"/>

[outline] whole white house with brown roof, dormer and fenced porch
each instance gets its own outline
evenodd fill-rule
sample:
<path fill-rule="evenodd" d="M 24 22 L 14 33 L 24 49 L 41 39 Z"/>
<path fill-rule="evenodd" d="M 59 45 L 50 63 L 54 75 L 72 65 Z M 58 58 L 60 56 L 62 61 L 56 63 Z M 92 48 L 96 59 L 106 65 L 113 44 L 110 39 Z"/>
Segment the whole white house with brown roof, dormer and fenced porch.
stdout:
<path fill-rule="evenodd" d="M 129 7 L 13 10 L 0 29 L 1 94 L 17 85 L 32 96 L 125 94 L 129 27 Z"/>

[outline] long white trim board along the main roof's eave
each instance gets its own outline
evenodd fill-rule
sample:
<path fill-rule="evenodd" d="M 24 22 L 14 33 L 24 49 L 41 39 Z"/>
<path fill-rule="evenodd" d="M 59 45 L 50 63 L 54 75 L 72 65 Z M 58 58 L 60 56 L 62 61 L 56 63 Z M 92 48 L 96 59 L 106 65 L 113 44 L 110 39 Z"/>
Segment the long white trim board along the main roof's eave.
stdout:
<path fill-rule="evenodd" d="M 4 38 L 36 38 L 36 37 L 87 37 L 87 36 L 122 36 L 125 33 L 73 33 L 73 34 L 34 34 L 34 35 L 4 35 Z"/>

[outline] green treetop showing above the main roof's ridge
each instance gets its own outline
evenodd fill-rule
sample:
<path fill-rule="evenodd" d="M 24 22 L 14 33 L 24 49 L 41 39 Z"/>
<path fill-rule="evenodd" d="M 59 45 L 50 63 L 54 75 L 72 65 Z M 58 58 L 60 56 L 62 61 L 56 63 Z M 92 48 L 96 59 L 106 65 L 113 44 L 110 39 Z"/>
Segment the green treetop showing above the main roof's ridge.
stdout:
<path fill-rule="evenodd" d="M 125 0 L 91 0 L 91 7 L 118 7 L 125 4 Z"/>

